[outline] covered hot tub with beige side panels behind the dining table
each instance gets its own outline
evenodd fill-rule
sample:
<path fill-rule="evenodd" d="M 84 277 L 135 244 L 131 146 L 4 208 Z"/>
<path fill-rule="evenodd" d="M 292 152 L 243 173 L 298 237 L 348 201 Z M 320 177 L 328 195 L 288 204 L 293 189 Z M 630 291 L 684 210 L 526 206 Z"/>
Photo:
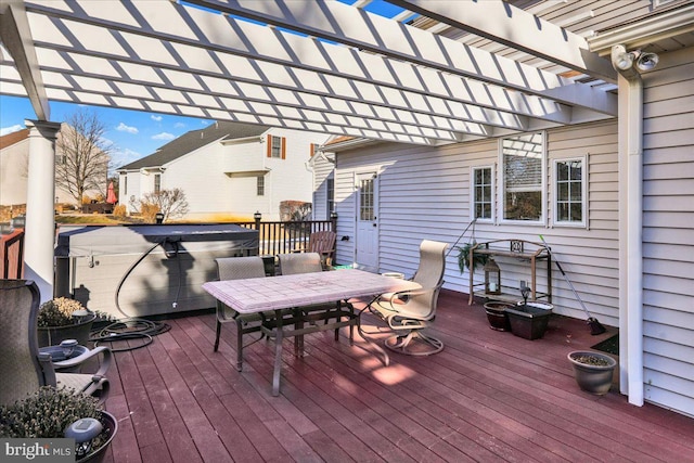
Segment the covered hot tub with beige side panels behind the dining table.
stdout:
<path fill-rule="evenodd" d="M 201 286 L 217 278 L 215 259 L 257 254 L 258 231 L 233 223 L 64 226 L 55 295 L 116 318 L 211 308 Z"/>

